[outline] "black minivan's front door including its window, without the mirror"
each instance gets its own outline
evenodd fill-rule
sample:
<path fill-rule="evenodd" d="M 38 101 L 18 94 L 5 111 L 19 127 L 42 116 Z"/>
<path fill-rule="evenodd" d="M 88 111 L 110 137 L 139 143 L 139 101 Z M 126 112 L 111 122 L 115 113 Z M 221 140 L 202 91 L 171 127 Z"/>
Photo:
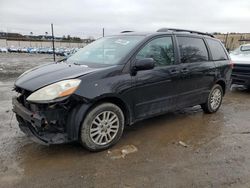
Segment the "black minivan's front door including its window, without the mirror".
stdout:
<path fill-rule="evenodd" d="M 133 76 L 135 92 L 133 97 L 136 119 L 143 119 L 176 108 L 179 65 L 175 62 L 174 44 L 171 36 L 149 41 L 135 59 L 153 58 L 152 70 L 138 71 Z"/>

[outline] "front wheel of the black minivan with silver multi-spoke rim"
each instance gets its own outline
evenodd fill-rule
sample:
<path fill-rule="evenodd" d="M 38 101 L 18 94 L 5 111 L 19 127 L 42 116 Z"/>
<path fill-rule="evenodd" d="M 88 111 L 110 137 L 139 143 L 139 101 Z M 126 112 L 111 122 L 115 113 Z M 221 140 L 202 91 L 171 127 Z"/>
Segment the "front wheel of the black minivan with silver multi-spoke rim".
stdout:
<path fill-rule="evenodd" d="M 80 141 L 90 151 L 100 151 L 116 144 L 124 129 L 124 114 L 115 104 L 102 103 L 85 117 Z"/>

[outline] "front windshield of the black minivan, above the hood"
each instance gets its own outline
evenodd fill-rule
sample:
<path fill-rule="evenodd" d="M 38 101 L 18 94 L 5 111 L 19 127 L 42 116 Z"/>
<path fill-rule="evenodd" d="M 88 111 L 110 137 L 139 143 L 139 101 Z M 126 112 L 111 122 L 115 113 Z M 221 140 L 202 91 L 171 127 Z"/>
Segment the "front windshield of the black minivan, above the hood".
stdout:
<path fill-rule="evenodd" d="M 76 64 L 109 64 L 120 62 L 143 39 L 143 36 L 104 37 L 80 49 L 67 59 Z"/>

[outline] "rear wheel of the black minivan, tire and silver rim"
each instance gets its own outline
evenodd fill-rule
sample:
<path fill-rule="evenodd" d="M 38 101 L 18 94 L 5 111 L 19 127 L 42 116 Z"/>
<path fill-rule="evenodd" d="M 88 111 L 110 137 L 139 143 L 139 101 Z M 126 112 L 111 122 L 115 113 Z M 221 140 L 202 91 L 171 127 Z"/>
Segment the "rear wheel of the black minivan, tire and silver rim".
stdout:
<path fill-rule="evenodd" d="M 201 108 L 205 113 L 212 114 L 218 111 L 223 98 L 223 89 L 219 84 L 216 84 L 211 89 L 207 101 L 201 104 Z"/>

